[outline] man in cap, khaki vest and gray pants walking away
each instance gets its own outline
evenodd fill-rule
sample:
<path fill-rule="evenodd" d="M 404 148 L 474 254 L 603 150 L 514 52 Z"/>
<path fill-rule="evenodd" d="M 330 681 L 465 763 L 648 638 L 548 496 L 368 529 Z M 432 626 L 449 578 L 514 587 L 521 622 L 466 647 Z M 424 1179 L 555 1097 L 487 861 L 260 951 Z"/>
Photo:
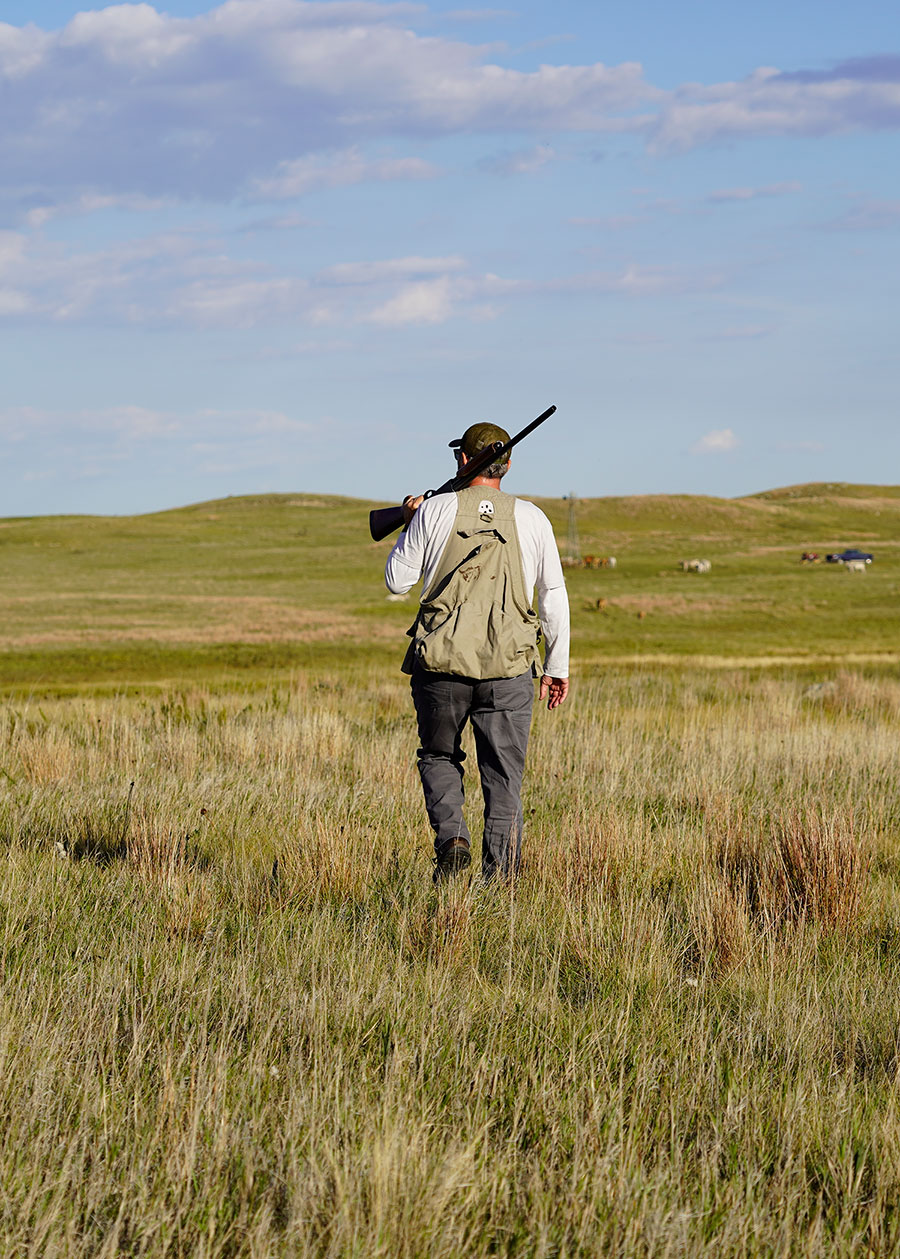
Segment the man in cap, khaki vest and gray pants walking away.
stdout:
<path fill-rule="evenodd" d="M 451 442 L 459 468 L 510 437 L 472 424 Z M 537 642 L 546 643 L 540 700 L 556 709 L 569 692 L 569 601 L 550 521 L 532 502 L 503 494 L 510 467 L 488 467 L 458 492 L 404 501 L 404 531 L 388 556 L 385 582 L 423 592 L 403 670 L 412 675 L 418 764 L 434 831 L 434 881 L 471 862 L 462 807 L 462 731 L 472 723 L 485 796 L 481 851 L 486 881 L 519 870 L 525 772 Z M 537 614 L 532 593 L 537 590 Z"/>

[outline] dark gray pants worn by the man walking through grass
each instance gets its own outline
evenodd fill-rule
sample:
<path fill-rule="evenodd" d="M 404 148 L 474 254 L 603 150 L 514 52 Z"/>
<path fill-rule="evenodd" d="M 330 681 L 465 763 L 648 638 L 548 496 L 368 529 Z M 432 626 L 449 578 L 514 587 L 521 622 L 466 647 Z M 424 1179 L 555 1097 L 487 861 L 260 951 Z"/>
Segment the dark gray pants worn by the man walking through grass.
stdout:
<path fill-rule="evenodd" d="M 482 874 L 486 879 L 498 870 L 515 874 L 521 855 L 520 793 L 534 705 L 531 674 L 477 681 L 415 666 L 412 689 L 422 743 L 419 776 L 436 852 L 448 840 L 470 840 L 462 816 L 462 731 L 471 721 L 485 796 Z"/>

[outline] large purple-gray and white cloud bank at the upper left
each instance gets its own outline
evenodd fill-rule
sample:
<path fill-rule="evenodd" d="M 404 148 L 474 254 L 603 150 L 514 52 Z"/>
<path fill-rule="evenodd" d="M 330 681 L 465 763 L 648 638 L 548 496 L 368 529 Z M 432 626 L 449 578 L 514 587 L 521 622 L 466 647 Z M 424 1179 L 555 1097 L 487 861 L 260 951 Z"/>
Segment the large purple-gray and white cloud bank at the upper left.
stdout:
<path fill-rule="evenodd" d="M 417 34 L 419 18 L 427 9 L 408 4 L 228 0 L 194 18 L 121 4 L 54 31 L 0 25 L 8 204 L 422 179 L 434 171 L 420 159 L 364 159 L 351 146 L 461 130 L 634 130 L 644 125 L 634 111 L 661 96 L 634 63 L 509 69 L 485 45 Z M 345 157 L 310 160 L 329 152 Z"/>

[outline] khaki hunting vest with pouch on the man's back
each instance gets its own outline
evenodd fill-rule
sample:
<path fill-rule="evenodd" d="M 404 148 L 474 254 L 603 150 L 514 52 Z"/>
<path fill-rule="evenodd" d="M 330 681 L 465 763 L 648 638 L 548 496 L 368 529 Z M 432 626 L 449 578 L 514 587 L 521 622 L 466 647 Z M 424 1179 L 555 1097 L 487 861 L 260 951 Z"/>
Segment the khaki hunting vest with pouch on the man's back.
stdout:
<path fill-rule="evenodd" d="M 403 662 L 457 677 L 519 677 L 537 660 L 540 622 L 530 607 L 512 495 L 486 486 L 457 494 L 437 572 L 422 592 Z"/>

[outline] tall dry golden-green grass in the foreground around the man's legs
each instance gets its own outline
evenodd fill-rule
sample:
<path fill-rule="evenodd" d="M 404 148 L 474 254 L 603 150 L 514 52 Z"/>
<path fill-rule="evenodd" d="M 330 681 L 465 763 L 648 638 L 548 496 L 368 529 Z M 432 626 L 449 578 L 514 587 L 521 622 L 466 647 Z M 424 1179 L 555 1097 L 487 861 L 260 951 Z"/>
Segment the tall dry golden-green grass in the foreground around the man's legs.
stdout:
<path fill-rule="evenodd" d="M 400 680 L 8 708 L 0 1253 L 896 1253 L 899 714 L 583 682 L 436 891 Z"/>

